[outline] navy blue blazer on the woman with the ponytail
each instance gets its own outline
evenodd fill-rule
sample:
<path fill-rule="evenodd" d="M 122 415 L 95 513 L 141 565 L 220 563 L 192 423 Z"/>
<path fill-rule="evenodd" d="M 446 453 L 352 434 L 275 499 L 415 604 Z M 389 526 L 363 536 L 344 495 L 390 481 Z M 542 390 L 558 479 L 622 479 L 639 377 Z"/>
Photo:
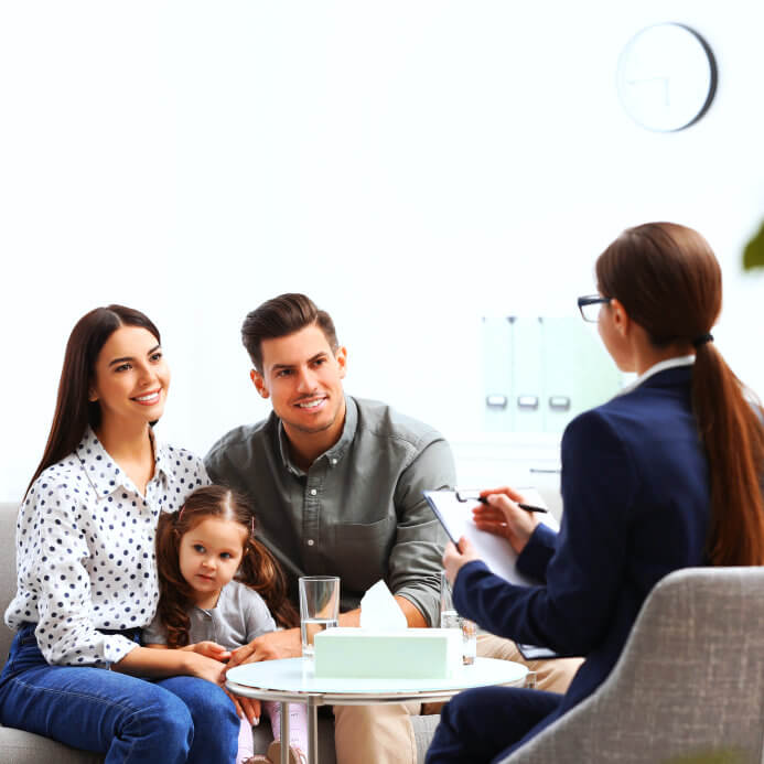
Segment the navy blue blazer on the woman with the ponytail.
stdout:
<path fill-rule="evenodd" d="M 585 657 L 544 725 L 610 674 L 657 581 L 706 562 L 710 487 L 691 373 L 659 372 L 566 428 L 560 532 L 538 526 L 517 560 L 542 585 L 513 585 L 483 562 L 459 572 L 460 613 L 493 634 Z"/>

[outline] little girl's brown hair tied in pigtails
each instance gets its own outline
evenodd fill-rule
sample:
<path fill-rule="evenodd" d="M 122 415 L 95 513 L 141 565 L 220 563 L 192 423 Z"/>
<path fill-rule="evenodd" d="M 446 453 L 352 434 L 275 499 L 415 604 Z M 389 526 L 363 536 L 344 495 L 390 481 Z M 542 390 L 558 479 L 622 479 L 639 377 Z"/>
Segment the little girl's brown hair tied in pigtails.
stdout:
<path fill-rule="evenodd" d="M 190 494 L 180 510 L 162 513 L 157 526 L 160 591 L 157 612 L 168 633 L 168 647 L 189 644 L 189 612 L 194 605 L 193 590 L 181 574 L 181 538 L 207 517 L 234 520 L 247 531 L 236 580 L 251 587 L 265 600 L 278 625 L 297 626 L 300 620 L 287 599 L 287 579 L 273 556 L 255 537 L 255 515 L 233 491 L 208 485 Z"/>

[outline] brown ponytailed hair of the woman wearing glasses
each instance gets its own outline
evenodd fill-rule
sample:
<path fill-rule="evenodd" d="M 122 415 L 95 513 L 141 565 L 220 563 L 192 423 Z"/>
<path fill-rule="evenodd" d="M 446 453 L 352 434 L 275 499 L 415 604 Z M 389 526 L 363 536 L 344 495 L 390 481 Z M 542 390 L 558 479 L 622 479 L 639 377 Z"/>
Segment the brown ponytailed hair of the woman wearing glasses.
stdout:
<path fill-rule="evenodd" d="M 700 234 L 671 223 L 625 230 L 596 261 L 598 287 L 616 298 L 656 347 L 693 344 L 692 409 L 709 462 L 709 560 L 764 563 L 761 406 L 703 342 L 721 311 L 719 262 Z"/>

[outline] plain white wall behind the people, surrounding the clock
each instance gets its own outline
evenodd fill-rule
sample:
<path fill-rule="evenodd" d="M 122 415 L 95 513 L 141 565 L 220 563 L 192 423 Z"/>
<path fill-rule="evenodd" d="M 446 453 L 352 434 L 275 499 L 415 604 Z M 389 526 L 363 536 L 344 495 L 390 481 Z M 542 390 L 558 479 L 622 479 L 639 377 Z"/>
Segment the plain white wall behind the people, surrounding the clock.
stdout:
<path fill-rule="evenodd" d="M 709 114 L 674 134 L 621 109 L 636 31 L 713 47 Z M 715 332 L 764 392 L 761 3 L 3 3 L 0 499 L 41 455 L 63 348 L 97 304 L 144 310 L 174 380 L 162 437 L 204 452 L 267 408 L 238 330 L 306 291 L 347 389 L 449 434 L 480 429 L 478 318 L 564 314 L 627 225 L 698 227 L 722 261 Z"/>

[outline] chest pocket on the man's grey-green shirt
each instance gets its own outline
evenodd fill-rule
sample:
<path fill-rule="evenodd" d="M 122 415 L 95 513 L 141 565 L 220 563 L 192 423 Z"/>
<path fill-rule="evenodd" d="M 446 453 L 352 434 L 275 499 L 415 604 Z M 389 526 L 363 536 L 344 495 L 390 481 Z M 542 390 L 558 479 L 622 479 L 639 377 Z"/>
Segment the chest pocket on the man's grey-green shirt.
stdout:
<path fill-rule="evenodd" d="M 395 541 L 395 518 L 376 523 L 337 523 L 332 526 L 330 564 L 342 579 L 342 588 L 363 594 L 387 574 Z"/>

